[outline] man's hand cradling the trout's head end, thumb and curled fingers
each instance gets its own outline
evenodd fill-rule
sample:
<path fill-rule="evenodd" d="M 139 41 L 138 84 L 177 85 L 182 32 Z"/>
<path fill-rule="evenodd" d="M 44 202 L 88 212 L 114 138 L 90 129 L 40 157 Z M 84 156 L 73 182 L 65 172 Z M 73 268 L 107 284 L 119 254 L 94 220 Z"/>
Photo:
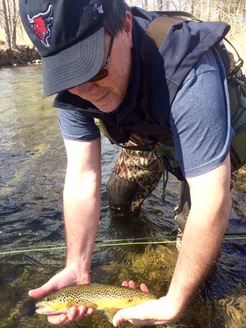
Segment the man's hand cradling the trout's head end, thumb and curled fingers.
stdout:
<path fill-rule="evenodd" d="M 76 268 L 66 267 L 63 271 L 60 271 L 47 281 L 43 286 L 30 290 L 28 295 L 30 297 L 40 298 L 50 292 L 58 291 L 61 288 L 83 283 L 90 283 L 90 276 L 87 273 L 81 274 Z M 85 306 L 76 308 L 75 306 L 72 306 L 67 314 L 48 315 L 48 321 L 53 324 L 70 323 L 73 320 L 82 319 L 85 315 L 90 316 L 93 312 L 94 310 L 92 308 L 87 309 Z"/>

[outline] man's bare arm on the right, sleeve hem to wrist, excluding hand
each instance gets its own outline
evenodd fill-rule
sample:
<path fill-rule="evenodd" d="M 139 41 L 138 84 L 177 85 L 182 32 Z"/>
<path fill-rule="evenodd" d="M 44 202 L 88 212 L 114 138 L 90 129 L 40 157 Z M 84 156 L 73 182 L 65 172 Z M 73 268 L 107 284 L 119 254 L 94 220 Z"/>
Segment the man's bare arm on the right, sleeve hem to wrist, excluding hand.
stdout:
<path fill-rule="evenodd" d="M 216 259 L 231 211 L 230 156 L 218 168 L 188 178 L 191 211 L 168 296 L 185 308 Z"/>

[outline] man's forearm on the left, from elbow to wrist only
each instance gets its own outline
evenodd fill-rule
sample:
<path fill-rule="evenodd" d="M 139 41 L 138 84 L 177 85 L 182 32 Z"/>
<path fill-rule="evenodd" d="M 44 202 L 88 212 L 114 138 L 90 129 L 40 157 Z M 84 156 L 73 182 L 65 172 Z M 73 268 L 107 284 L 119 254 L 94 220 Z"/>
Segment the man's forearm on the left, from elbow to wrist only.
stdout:
<path fill-rule="evenodd" d="M 67 265 L 90 272 L 91 257 L 100 216 L 100 181 L 85 178 L 65 183 L 64 216 Z"/>

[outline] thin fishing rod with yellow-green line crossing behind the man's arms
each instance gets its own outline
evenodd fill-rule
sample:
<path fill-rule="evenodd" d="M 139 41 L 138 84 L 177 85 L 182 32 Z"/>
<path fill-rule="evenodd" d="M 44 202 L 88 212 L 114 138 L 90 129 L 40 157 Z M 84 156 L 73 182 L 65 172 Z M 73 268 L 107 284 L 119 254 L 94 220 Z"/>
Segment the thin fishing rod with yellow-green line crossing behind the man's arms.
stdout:
<path fill-rule="evenodd" d="M 238 236 L 238 237 L 234 237 Z M 142 237 L 142 238 L 124 238 L 124 239 L 112 239 L 112 240 L 96 240 L 96 247 L 112 247 L 112 246 L 123 246 L 123 245 L 144 245 L 144 244 L 166 244 L 175 243 L 176 238 L 180 236 L 160 236 L 160 237 Z M 162 240 L 157 241 L 157 239 L 175 239 L 175 240 Z M 223 241 L 246 239 L 246 233 L 226 233 L 222 238 Z M 144 241 L 146 240 L 146 241 Z M 149 241 L 152 240 L 152 241 Z M 0 250 L 0 255 L 6 254 L 16 254 L 16 253 L 26 253 L 26 252 L 40 252 L 40 251 L 50 251 L 50 250 L 61 250 L 66 249 L 66 244 L 50 244 L 45 246 L 33 246 L 33 247 L 23 247 L 14 249 L 2 249 Z"/>

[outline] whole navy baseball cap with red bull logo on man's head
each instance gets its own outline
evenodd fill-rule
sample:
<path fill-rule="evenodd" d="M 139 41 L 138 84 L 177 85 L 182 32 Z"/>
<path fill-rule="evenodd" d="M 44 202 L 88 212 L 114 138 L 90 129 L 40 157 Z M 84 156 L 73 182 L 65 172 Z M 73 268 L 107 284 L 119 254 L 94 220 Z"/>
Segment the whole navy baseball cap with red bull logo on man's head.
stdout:
<path fill-rule="evenodd" d="M 104 17 L 113 0 L 19 0 L 24 28 L 42 58 L 44 93 L 83 84 L 105 57 Z"/>

